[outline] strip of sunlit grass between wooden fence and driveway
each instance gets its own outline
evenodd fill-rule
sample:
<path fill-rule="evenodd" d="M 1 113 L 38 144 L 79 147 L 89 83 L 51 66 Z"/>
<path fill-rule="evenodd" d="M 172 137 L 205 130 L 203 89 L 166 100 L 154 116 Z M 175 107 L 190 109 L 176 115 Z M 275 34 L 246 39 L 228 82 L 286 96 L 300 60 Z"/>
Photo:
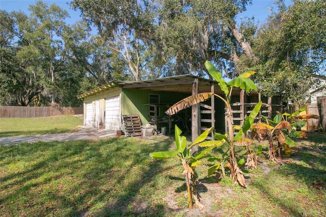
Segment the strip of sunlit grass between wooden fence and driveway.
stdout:
<path fill-rule="evenodd" d="M 0 118 L 0 137 L 73 132 L 83 125 L 83 119 L 74 116 L 46 118 Z"/>

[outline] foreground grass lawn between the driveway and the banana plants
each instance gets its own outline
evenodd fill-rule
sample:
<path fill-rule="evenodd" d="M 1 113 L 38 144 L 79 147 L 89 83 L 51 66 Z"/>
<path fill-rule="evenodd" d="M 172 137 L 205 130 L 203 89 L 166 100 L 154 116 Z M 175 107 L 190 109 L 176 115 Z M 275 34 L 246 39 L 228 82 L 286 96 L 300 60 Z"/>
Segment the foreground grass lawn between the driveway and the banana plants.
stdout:
<path fill-rule="evenodd" d="M 169 138 L 0 147 L 0 215 L 326 216 L 324 138 L 317 133 L 300 141 L 279 168 L 264 147 L 261 167 L 245 175 L 247 188 L 207 177 L 211 163 L 203 161 L 196 170 L 205 208 L 193 210 L 187 209 L 179 161 L 149 156 L 174 149 Z"/>

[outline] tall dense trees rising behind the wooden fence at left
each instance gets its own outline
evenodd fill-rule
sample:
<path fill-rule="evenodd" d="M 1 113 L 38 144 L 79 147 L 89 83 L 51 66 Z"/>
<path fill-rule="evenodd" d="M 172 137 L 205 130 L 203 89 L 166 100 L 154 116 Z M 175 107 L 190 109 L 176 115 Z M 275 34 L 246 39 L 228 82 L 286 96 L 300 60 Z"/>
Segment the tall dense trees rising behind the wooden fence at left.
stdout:
<path fill-rule="evenodd" d="M 80 105 L 76 95 L 94 86 L 85 70 L 68 58 L 71 41 L 63 36 L 69 32 L 77 38 L 84 30 L 70 31 L 64 21 L 67 12 L 54 4 L 38 1 L 29 9 L 30 16 L 0 10 L 0 103 Z"/>

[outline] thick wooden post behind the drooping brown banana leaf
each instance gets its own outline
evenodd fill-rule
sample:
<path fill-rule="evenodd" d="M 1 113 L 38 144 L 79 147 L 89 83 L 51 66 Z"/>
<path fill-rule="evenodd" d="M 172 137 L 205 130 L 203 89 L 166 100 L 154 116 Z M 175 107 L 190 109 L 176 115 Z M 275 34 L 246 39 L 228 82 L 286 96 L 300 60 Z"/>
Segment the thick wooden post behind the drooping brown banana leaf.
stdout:
<path fill-rule="evenodd" d="M 193 83 L 193 88 L 192 88 L 192 95 L 196 95 L 198 94 L 198 78 L 196 78 L 194 80 L 194 83 Z M 199 106 L 200 104 L 197 103 L 195 105 L 192 105 L 192 142 L 194 142 L 196 140 L 196 138 L 199 136 Z M 195 153 L 198 151 L 198 145 L 196 146 L 193 146 L 192 147 L 192 153 Z"/>

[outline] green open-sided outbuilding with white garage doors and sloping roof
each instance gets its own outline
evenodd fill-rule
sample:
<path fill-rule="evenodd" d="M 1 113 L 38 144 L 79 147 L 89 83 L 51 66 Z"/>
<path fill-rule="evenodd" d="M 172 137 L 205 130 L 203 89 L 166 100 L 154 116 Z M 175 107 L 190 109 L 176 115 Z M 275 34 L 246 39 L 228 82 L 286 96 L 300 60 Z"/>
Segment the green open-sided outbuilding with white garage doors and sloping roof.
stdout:
<path fill-rule="evenodd" d="M 194 75 L 143 80 L 139 82 L 111 82 L 78 96 L 84 101 L 84 124 L 111 130 L 124 130 L 122 116 L 138 114 L 143 125 L 152 124 L 173 130 L 177 124 L 196 138 L 201 131 L 214 125 L 225 132 L 224 103 L 211 98 L 173 116 L 165 111 L 176 102 L 197 93 L 214 92 L 223 96 L 218 83 Z M 262 100 L 263 115 L 272 116 L 280 110 L 280 98 L 264 98 L 259 93 L 233 90 L 234 124 L 240 125 L 254 105 Z"/>

